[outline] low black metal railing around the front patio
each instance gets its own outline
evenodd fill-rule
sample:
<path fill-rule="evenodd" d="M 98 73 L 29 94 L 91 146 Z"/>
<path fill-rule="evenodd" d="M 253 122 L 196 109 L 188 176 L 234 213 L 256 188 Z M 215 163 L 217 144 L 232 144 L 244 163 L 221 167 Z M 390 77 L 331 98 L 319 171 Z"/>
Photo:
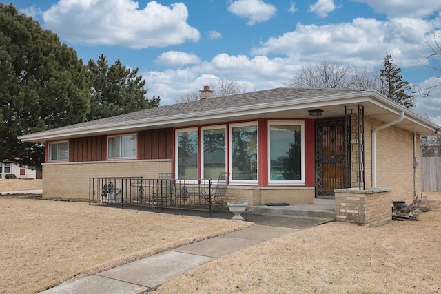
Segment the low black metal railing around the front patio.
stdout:
<path fill-rule="evenodd" d="M 89 204 L 103 202 L 212 211 L 212 180 L 90 178 Z"/>

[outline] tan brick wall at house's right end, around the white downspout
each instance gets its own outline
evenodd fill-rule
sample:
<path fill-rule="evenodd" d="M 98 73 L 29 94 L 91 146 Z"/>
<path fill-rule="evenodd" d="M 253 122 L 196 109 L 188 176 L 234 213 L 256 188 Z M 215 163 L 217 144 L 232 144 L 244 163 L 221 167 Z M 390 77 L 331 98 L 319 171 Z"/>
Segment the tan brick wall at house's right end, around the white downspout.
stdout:
<path fill-rule="evenodd" d="M 365 180 L 372 187 L 372 130 L 384 123 L 365 117 Z M 380 129 L 377 140 L 377 187 L 391 188 L 393 200 L 413 201 L 413 133 L 392 126 Z M 420 160 L 420 138 L 416 140 Z M 421 193 L 420 165 L 416 169 L 416 193 Z"/>

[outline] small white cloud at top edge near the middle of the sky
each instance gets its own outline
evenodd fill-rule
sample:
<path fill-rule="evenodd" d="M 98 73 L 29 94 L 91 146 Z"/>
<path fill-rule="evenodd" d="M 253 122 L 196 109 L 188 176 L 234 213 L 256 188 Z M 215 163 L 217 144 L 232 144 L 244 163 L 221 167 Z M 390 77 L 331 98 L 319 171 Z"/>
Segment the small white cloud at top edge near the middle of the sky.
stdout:
<path fill-rule="evenodd" d="M 276 14 L 277 8 L 262 0 L 237 0 L 230 3 L 228 11 L 249 19 L 247 25 L 254 25 L 271 19 Z"/>

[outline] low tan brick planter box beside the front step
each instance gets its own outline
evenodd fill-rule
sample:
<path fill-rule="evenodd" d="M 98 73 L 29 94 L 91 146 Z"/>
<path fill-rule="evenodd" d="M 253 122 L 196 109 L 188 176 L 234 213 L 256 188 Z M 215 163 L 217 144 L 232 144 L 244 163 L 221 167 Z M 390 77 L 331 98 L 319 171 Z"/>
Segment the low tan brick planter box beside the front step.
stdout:
<path fill-rule="evenodd" d="M 391 189 L 336 190 L 336 221 L 376 226 L 391 220 Z"/>

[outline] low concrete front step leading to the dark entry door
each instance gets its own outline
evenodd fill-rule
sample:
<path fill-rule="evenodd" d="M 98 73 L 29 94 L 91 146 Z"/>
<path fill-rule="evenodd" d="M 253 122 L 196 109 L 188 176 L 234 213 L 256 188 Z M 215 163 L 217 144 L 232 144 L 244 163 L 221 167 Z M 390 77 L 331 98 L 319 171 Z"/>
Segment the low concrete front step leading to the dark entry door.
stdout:
<path fill-rule="evenodd" d="M 336 217 L 335 206 L 322 204 L 290 204 L 287 206 L 256 205 L 251 207 L 250 212 L 272 216 L 302 216 L 331 219 Z"/>

